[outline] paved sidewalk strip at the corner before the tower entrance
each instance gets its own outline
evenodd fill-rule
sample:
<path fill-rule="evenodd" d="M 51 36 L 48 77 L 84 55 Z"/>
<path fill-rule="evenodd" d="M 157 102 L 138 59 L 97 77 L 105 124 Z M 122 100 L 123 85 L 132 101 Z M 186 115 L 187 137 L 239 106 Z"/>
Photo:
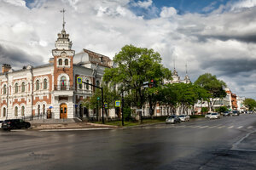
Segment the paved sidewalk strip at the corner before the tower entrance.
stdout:
<path fill-rule="evenodd" d="M 32 123 L 31 129 L 114 129 L 117 126 L 102 125 L 90 122 L 69 122 L 69 123 Z"/>

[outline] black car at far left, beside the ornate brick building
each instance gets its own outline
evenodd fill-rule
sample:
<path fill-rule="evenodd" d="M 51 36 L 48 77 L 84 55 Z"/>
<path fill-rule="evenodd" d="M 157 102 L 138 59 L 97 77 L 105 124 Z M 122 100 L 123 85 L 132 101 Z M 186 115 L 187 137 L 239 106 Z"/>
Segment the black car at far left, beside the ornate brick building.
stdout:
<path fill-rule="evenodd" d="M 31 127 L 30 122 L 25 122 L 22 119 L 9 119 L 5 120 L 2 123 L 2 129 L 3 130 L 10 130 L 14 128 L 29 128 Z"/>

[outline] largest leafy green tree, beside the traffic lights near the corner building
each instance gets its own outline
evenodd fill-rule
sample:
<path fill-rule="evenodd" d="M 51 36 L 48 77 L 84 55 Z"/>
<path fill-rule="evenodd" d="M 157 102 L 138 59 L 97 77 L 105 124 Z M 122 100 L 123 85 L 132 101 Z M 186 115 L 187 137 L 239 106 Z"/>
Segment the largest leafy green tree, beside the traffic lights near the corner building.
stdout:
<path fill-rule="evenodd" d="M 125 45 L 113 58 L 117 66 L 106 69 L 103 80 L 119 84 L 122 90 L 131 91 L 134 97 L 133 105 L 142 109 L 147 101 L 147 89 L 142 88 L 143 82 L 151 79 L 160 82 L 164 77 L 160 61 L 160 54 L 154 52 L 153 49 Z M 142 112 L 139 116 L 142 123 Z"/>

